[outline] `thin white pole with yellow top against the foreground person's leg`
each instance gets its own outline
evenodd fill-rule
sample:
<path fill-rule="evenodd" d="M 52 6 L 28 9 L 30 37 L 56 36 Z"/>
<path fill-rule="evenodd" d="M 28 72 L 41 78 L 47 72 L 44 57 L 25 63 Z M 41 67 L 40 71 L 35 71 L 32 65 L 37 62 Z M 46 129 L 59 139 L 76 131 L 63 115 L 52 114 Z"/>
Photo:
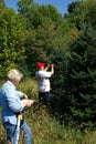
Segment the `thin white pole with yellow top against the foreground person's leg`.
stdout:
<path fill-rule="evenodd" d="M 21 115 L 19 114 L 19 115 L 18 115 L 18 122 L 17 122 L 15 135 L 14 135 L 14 138 L 13 138 L 13 144 L 18 144 L 18 142 L 19 142 L 19 135 L 20 135 L 20 119 L 21 119 Z"/>

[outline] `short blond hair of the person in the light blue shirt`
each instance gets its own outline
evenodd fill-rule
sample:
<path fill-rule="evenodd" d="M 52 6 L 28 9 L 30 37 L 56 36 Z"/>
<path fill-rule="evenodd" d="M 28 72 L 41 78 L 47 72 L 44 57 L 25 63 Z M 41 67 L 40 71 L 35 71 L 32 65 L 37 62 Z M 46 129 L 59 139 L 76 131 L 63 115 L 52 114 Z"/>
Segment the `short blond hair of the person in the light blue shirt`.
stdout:
<path fill-rule="evenodd" d="M 17 69 L 11 69 L 9 72 L 8 72 L 8 79 L 11 81 L 11 80 L 15 80 L 15 81 L 20 81 L 22 79 L 23 74 L 17 70 Z"/>

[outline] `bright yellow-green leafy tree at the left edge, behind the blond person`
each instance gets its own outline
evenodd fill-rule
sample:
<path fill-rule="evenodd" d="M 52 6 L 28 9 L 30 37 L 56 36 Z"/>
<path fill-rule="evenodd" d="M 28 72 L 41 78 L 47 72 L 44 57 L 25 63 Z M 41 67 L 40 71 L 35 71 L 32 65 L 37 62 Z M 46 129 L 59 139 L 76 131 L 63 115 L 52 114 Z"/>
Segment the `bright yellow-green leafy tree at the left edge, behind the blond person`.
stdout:
<path fill-rule="evenodd" d="M 18 61 L 24 52 L 22 43 L 25 39 L 23 19 L 13 10 L 4 9 L 0 14 L 0 78 L 11 68 L 18 66 Z"/>

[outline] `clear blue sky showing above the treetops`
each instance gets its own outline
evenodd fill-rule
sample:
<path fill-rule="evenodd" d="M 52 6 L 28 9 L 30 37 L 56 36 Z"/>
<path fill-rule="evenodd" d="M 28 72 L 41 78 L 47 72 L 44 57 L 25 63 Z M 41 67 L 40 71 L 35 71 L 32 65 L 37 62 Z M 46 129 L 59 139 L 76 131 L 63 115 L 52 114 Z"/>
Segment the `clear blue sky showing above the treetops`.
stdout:
<path fill-rule="evenodd" d="M 6 4 L 8 8 L 13 8 L 17 11 L 18 10 L 18 7 L 17 7 L 18 1 L 19 0 L 6 0 Z M 61 14 L 64 14 L 65 12 L 67 12 L 67 6 L 70 3 L 72 3 L 72 1 L 76 1 L 76 0 L 33 0 L 33 1 L 39 3 L 39 4 L 52 4 L 57 9 L 57 11 Z"/>

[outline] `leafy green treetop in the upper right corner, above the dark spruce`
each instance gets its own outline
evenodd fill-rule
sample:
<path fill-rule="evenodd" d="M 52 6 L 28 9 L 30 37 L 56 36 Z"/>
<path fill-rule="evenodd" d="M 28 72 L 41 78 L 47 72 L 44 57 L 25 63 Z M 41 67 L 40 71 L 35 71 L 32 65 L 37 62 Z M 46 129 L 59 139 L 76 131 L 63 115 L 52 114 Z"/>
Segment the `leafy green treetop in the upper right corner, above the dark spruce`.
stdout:
<path fill-rule="evenodd" d="M 75 24 L 75 27 L 81 30 L 85 23 L 92 23 L 96 25 L 96 1 L 95 0 L 84 0 L 75 1 L 68 4 L 65 18 Z"/>

